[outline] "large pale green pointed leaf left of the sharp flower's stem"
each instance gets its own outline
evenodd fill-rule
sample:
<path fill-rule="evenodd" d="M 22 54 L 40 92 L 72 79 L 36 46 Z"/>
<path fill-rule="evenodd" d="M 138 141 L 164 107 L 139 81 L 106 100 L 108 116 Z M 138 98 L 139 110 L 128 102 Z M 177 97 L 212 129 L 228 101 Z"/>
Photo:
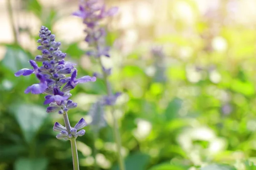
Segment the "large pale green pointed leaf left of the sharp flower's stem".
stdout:
<path fill-rule="evenodd" d="M 15 105 L 11 110 L 26 142 L 30 143 L 47 117 L 45 108 L 37 105 Z"/>

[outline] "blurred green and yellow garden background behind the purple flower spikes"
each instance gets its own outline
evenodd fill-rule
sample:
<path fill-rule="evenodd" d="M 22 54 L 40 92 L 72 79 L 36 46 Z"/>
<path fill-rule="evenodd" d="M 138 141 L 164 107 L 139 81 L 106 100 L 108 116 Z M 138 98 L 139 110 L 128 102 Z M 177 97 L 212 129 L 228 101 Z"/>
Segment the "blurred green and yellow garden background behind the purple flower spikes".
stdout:
<path fill-rule="evenodd" d="M 256 1 L 105 0 L 119 13 L 102 22 L 127 170 L 254 170 L 256 162 Z M 70 170 L 70 142 L 57 140 L 44 95 L 24 94 L 38 80 L 15 77 L 40 54 L 47 26 L 79 77 L 100 70 L 85 55 L 78 0 L 0 1 L 0 170 Z M 71 125 L 106 94 L 102 80 L 79 85 Z M 113 122 L 78 138 L 81 170 L 118 170 Z M 93 146 L 98 150 L 93 157 Z M 227 165 L 229 164 L 229 165 Z M 256 167 L 254 167 L 256 168 Z"/>

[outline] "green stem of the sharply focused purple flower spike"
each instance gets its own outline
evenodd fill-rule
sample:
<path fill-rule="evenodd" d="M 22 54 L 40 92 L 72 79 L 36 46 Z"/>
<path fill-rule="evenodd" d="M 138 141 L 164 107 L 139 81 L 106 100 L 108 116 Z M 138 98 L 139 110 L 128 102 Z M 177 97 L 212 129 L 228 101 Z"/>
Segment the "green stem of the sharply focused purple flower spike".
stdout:
<path fill-rule="evenodd" d="M 67 128 L 67 132 L 70 134 L 70 122 L 67 116 L 67 112 L 63 114 L 63 119 L 65 126 Z M 72 159 L 73 159 L 73 169 L 74 170 L 79 170 L 79 161 L 78 161 L 78 154 L 77 154 L 77 148 L 76 148 L 76 138 L 70 139 L 71 142 L 71 150 L 72 150 Z"/>

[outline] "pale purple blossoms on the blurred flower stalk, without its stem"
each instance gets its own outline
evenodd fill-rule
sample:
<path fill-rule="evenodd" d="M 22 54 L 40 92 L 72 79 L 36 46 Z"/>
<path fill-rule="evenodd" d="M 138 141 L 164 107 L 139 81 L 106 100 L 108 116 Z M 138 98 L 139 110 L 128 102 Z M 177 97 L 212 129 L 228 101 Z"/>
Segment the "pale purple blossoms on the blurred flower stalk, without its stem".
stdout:
<path fill-rule="evenodd" d="M 105 4 L 102 0 L 82 0 L 79 6 L 79 11 L 73 13 L 73 15 L 81 17 L 83 23 L 86 25 L 85 41 L 89 44 L 90 50 L 87 51 L 87 55 L 90 57 L 100 58 L 102 56 L 110 57 L 110 48 L 105 45 L 106 31 L 99 23 L 106 17 L 111 17 L 116 14 L 118 8 L 112 7 L 106 10 Z M 101 73 L 94 73 L 95 77 L 107 78 L 111 75 L 111 68 L 105 68 L 103 65 Z M 103 97 L 103 105 L 114 105 L 116 98 L 120 93 L 111 94 Z"/>

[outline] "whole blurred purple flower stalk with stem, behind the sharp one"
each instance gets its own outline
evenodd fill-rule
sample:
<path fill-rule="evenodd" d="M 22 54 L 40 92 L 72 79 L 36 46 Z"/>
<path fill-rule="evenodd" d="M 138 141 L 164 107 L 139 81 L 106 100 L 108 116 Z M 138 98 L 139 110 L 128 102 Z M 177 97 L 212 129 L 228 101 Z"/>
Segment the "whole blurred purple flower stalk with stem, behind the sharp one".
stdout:
<path fill-rule="evenodd" d="M 100 104 L 104 107 L 111 106 L 111 114 L 113 116 L 113 132 L 117 146 L 119 168 L 120 170 L 125 170 L 125 165 L 121 154 L 121 137 L 113 108 L 113 105 L 115 105 L 116 99 L 120 93 L 112 93 L 111 84 L 108 82 L 108 76 L 111 74 L 111 68 L 105 68 L 101 60 L 103 56 L 110 57 L 110 47 L 108 47 L 105 43 L 106 31 L 104 27 L 100 26 L 100 22 L 106 17 L 113 16 L 117 11 L 117 7 L 112 7 L 106 10 L 105 4 L 102 0 L 81 0 L 79 10 L 74 12 L 73 15 L 81 17 L 83 23 L 86 25 L 86 29 L 84 30 L 86 37 L 84 40 L 89 45 L 89 50 L 86 52 L 86 54 L 90 57 L 95 57 L 98 59 L 99 65 L 102 68 L 102 73 L 94 73 L 96 77 L 104 80 L 107 88 L 107 96 L 102 97 Z M 92 115 L 93 114 L 96 114 L 96 112 L 92 112 Z M 99 125 L 101 124 L 99 123 Z"/>

